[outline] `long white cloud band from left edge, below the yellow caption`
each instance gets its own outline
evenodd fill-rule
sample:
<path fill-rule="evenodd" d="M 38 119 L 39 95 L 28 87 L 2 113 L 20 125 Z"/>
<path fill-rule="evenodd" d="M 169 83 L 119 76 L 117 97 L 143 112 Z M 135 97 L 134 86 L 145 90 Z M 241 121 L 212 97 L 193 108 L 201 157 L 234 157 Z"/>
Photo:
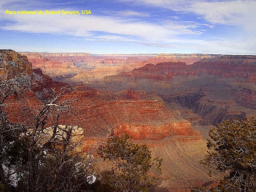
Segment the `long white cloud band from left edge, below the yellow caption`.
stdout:
<path fill-rule="evenodd" d="M 8 17 L 13 22 L 7 26 L 2 26 L 2 29 L 32 33 L 89 37 L 92 32 L 105 32 L 145 39 L 154 39 L 162 36 L 171 37 L 177 33 L 175 30 L 169 30 L 156 24 L 127 22 L 126 20 L 106 16 L 12 15 Z"/>

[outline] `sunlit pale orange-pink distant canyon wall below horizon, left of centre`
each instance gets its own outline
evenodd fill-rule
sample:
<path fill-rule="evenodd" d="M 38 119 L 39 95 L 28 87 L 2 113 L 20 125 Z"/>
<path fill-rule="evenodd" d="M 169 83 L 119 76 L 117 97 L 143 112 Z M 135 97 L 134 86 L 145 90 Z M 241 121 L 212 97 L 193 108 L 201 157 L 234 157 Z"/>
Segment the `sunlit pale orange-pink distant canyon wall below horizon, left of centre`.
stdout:
<path fill-rule="evenodd" d="M 91 55 L 90 53 L 21 53 L 34 69 L 69 84 L 97 81 L 105 76 L 144 66 L 149 55 Z"/>

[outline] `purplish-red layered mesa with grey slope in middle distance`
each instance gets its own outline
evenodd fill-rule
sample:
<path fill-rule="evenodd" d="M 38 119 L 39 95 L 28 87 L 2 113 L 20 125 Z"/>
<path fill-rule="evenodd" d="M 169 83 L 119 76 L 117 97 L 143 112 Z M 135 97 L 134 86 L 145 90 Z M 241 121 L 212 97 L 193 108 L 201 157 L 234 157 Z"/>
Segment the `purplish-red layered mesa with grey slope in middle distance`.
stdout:
<path fill-rule="evenodd" d="M 186 70 L 187 67 L 186 63 L 177 61 L 158 64 L 150 63 L 130 72 L 106 76 L 103 80 L 92 82 L 86 86 L 115 92 L 132 88 L 138 91 L 145 91 L 148 94 L 153 94 L 153 92 L 166 94 L 170 89 L 172 92 L 180 89 L 174 79 L 176 76 L 186 75 L 190 76 L 191 79 L 197 78 L 196 72 Z M 181 87 L 181 89 L 184 88 L 186 89 L 186 87 Z"/>

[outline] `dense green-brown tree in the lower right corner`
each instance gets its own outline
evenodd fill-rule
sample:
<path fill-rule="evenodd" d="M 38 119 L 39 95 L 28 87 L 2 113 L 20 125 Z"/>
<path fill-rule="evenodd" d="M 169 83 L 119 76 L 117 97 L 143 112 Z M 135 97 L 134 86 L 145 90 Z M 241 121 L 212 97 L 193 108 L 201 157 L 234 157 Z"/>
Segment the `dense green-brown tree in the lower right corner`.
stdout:
<path fill-rule="evenodd" d="M 208 152 L 202 163 L 210 172 L 229 173 L 214 190 L 256 191 L 256 120 L 225 121 L 211 129 L 209 136 L 207 147 L 215 152 Z"/>

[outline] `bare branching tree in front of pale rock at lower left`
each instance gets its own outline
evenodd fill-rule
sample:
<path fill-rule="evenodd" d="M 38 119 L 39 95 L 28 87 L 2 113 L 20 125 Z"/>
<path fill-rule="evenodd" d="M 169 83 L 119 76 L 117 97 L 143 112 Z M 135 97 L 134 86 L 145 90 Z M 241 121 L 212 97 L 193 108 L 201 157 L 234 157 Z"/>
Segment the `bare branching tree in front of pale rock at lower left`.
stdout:
<path fill-rule="evenodd" d="M 71 106 L 73 100 L 61 100 L 65 91 L 61 89 L 41 106 L 34 124 L 20 137 L 27 149 L 26 164 L 16 167 L 19 187 L 23 191 L 75 191 L 87 182 L 89 162 L 79 151 L 81 141 L 73 139 L 82 129 L 72 124 L 59 125 L 62 115 L 75 114 Z M 48 124 L 51 126 L 47 127 Z"/>

